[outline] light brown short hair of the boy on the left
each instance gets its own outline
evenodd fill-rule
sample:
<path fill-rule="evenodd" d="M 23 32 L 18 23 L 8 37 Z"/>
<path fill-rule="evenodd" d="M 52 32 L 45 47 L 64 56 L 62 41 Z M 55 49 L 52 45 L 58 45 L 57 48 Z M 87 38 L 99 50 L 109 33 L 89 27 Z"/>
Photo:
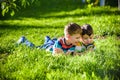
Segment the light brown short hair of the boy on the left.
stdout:
<path fill-rule="evenodd" d="M 70 35 L 74 35 L 74 34 L 82 34 L 82 29 L 81 26 L 76 24 L 76 23 L 70 23 L 68 25 L 65 26 L 64 28 L 64 33 L 65 34 L 70 34 Z"/>

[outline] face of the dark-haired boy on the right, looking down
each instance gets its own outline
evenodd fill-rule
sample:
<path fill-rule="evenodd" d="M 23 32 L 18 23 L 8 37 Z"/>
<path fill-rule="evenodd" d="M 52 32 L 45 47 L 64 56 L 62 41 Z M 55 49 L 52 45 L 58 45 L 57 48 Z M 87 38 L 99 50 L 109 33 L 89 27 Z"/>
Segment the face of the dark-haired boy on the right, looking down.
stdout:
<path fill-rule="evenodd" d="M 85 45 L 93 43 L 93 34 L 91 34 L 90 36 L 87 34 L 83 35 L 81 38 L 81 42 Z"/>

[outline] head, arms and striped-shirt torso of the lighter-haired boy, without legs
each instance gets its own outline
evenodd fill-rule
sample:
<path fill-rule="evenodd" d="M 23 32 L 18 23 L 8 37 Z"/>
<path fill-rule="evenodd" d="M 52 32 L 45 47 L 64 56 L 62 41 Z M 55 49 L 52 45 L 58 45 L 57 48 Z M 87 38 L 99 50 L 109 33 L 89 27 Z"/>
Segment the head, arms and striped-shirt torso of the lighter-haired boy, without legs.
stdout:
<path fill-rule="evenodd" d="M 75 46 L 81 37 L 81 27 L 76 23 L 70 23 L 64 28 L 64 37 L 55 41 L 54 45 L 49 46 L 47 51 L 52 51 L 53 55 L 56 54 L 71 54 L 75 50 Z"/>

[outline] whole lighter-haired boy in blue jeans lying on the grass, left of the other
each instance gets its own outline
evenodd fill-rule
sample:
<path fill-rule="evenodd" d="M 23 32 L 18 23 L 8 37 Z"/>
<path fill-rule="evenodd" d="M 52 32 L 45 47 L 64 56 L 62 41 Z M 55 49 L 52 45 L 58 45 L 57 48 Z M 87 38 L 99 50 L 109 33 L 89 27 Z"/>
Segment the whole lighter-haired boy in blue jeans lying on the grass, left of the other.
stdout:
<path fill-rule="evenodd" d="M 70 23 L 64 28 L 64 37 L 53 40 L 50 40 L 49 37 L 46 37 L 45 43 L 37 48 L 51 51 L 53 55 L 71 54 L 75 51 L 75 46 L 80 40 L 81 33 L 82 30 L 78 24 Z M 17 43 L 18 44 L 22 43 L 30 47 L 35 47 L 35 45 L 29 42 L 24 36 L 21 37 Z"/>

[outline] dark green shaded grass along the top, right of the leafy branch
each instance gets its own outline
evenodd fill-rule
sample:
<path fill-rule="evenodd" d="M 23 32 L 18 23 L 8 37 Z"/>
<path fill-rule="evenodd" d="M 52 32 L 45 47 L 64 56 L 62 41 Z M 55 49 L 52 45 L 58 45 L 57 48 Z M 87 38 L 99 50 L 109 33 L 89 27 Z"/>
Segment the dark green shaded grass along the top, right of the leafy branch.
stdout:
<path fill-rule="evenodd" d="M 21 7 L 19 12 L 16 12 L 14 17 L 8 17 L 9 14 L 7 14 L 5 19 L 14 19 L 19 17 L 38 18 L 44 14 L 61 11 L 72 11 L 79 7 L 83 8 L 81 0 L 37 0 L 32 5 L 27 6 L 25 9 L 24 7 Z M 2 19 L 4 19 L 4 17 Z"/>

